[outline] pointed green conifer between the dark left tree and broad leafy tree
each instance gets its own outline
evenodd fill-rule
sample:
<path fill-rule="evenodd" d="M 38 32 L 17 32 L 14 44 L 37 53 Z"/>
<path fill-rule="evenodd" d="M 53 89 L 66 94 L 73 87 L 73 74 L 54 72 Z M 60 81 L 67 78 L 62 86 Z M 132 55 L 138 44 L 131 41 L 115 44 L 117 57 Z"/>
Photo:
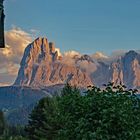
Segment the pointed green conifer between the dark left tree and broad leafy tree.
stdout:
<path fill-rule="evenodd" d="M 75 136 L 78 133 L 75 128 L 78 126 L 78 120 L 85 114 L 84 98 L 76 87 L 71 87 L 69 84 L 64 87 L 61 98 L 58 101 L 60 122 L 63 124 L 61 130 L 59 130 L 58 139 L 76 139 Z"/>

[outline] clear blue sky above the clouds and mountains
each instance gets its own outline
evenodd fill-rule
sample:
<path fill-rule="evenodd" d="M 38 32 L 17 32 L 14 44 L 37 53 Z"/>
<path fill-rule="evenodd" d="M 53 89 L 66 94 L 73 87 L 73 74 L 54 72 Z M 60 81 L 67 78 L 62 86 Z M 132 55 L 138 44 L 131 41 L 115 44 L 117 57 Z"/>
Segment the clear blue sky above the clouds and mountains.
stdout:
<path fill-rule="evenodd" d="M 5 0 L 4 5 L 6 30 L 35 29 L 62 52 L 140 48 L 139 0 Z"/>

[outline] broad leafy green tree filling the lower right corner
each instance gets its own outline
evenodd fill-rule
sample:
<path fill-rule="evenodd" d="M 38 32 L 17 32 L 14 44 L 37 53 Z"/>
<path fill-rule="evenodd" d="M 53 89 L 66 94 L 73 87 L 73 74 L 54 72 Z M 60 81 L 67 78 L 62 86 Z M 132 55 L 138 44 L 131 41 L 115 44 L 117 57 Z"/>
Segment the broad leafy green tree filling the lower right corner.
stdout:
<path fill-rule="evenodd" d="M 76 139 L 136 140 L 140 129 L 140 100 L 134 93 L 135 90 L 112 83 L 104 90 L 90 87 L 84 96 L 84 116 L 75 128 Z"/>

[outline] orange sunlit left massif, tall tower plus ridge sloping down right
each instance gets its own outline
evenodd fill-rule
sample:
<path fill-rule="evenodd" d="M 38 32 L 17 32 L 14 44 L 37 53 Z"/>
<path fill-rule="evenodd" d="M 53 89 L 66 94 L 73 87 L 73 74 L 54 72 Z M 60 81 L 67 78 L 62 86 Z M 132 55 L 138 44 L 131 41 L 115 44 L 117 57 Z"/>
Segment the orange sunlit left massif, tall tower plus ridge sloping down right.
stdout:
<path fill-rule="evenodd" d="M 48 43 L 47 39 L 38 38 L 27 46 L 14 85 L 48 86 L 66 82 L 78 87 L 92 84 L 87 73 L 61 63 L 54 44 Z"/>

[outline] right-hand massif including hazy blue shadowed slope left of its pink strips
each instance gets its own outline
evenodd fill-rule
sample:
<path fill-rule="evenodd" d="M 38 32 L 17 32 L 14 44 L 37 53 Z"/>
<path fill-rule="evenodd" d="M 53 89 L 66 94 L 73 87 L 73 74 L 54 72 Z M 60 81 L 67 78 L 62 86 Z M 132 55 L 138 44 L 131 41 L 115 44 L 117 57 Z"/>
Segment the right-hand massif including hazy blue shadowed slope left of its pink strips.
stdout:
<path fill-rule="evenodd" d="M 91 79 L 97 86 L 108 82 L 125 84 L 128 88 L 140 90 L 140 54 L 129 51 L 110 64 L 98 62 L 97 70 L 91 74 Z"/>

